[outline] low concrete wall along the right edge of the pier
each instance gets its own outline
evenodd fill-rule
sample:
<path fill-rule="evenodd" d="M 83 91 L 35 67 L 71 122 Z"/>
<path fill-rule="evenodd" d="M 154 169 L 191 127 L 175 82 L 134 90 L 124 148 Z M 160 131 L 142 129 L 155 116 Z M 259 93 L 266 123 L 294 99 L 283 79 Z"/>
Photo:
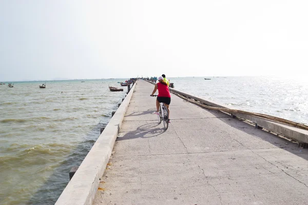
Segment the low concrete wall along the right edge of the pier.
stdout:
<path fill-rule="evenodd" d="M 148 80 L 146 80 L 148 81 Z M 155 85 L 155 83 L 152 83 L 150 81 L 148 81 L 149 83 Z M 203 103 L 205 105 L 211 106 L 211 107 L 217 107 L 217 108 L 228 108 L 228 109 L 236 109 L 236 108 L 232 108 L 230 106 L 221 106 L 218 103 L 214 102 L 214 101 L 210 101 L 210 100 L 205 100 L 205 99 L 201 99 L 199 97 L 195 97 L 192 95 L 189 95 L 187 93 L 183 93 L 181 91 L 178 91 L 176 89 L 172 89 L 169 88 L 171 91 L 179 93 L 185 97 L 189 97 L 191 99 L 195 99 L 200 101 L 200 103 Z M 255 124 L 257 124 L 259 127 L 261 128 L 265 128 L 268 131 L 274 132 L 276 134 L 282 135 L 284 137 L 287 138 L 291 138 L 295 141 L 298 141 L 299 143 L 308 143 L 308 131 L 307 130 L 303 130 L 300 128 L 296 128 L 293 126 L 288 126 L 285 124 L 281 124 L 279 122 L 275 122 L 273 120 L 268 120 L 268 119 L 264 119 L 261 117 L 255 117 L 252 115 L 247 115 L 247 114 L 242 114 L 242 113 L 230 113 L 233 114 L 234 116 L 240 117 L 240 118 L 244 118 L 244 119 L 248 119 L 249 121 L 254 122 Z"/>

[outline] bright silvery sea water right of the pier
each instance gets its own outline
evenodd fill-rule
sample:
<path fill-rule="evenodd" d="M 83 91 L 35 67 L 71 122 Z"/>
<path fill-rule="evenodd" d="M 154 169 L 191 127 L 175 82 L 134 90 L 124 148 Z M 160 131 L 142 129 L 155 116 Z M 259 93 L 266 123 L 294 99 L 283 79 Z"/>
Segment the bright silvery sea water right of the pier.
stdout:
<path fill-rule="evenodd" d="M 170 78 L 170 83 L 176 90 L 220 105 L 308 124 L 305 77 L 183 77 Z"/>

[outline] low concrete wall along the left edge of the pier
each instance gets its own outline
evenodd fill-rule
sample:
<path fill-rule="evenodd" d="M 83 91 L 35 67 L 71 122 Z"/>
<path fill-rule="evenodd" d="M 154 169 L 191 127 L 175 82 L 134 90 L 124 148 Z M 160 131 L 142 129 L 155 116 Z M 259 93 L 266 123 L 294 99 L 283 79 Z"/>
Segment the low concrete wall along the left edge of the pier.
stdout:
<path fill-rule="evenodd" d="M 56 205 L 92 204 L 136 84 L 130 89 L 121 106 L 110 119 L 73 178 L 55 202 Z"/>

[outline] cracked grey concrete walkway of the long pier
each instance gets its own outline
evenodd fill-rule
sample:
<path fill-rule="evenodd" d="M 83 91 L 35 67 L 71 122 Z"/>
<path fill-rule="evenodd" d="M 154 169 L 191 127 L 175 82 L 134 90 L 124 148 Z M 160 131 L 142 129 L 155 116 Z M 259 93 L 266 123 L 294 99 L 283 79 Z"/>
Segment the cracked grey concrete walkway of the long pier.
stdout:
<path fill-rule="evenodd" d="M 307 204 L 308 152 L 171 95 L 158 125 L 139 80 L 93 204 Z"/>

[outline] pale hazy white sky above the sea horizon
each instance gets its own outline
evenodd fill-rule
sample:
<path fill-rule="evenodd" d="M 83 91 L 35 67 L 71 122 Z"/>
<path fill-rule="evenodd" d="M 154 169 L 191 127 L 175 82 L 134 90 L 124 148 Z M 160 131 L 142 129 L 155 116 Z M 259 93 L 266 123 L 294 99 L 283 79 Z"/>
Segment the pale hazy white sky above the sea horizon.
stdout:
<path fill-rule="evenodd" d="M 304 75 L 308 2 L 0 0 L 0 81 Z"/>

